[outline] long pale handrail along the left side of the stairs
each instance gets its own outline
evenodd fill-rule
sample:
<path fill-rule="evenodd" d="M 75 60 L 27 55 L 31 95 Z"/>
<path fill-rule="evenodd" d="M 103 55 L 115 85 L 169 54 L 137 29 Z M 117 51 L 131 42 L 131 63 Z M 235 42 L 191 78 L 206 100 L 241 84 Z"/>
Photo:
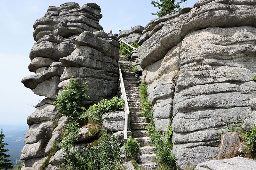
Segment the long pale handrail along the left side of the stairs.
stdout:
<path fill-rule="evenodd" d="M 118 68 L 119 68 L 119 82 L 120 82 L 120 87 L 121 87 L 121 92 L 122 92 L 122 98 L 124 100 L 124 111 L 125 111 L 125 118 L 124 118 L 124 143 L 127 142 L 127 129 L 128 129 L 128 115 L 130 115 L 130 110 L 128 106 L 128 101 L 126 97 L 126 92 L 124 88 L 124 80 L 122 76 L 122 71 L 120 67 L 120 63 L 118 62 Z"/>

